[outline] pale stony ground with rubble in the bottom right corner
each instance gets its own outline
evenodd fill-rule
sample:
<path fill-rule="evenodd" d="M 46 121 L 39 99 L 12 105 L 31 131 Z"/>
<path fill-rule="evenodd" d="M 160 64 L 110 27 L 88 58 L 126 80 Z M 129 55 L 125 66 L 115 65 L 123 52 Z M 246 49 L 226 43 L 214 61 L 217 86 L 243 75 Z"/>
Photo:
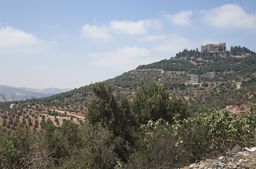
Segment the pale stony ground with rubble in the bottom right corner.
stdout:
<path fill-rule="evenodd" d="M 181 169 L 255 169 L 256 151 L 248 152 L 244 148 L 237 154 L 225 158 L 207 159 Z"/>

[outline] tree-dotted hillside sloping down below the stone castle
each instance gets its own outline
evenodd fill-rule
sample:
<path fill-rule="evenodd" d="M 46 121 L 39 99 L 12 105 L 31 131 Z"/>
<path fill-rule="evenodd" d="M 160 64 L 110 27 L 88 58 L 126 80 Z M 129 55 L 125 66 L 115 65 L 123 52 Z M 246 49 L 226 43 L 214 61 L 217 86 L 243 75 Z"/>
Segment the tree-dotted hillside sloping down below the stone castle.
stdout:
<path fill-rule="evenodd" d="M 206 78 L 209 71 L 215 72 L 213 79 Z M 193 113 L 203 106 L 216 109 L 255 103 L 252 97 L 256 86 L 255 71 L 256 54 L 245 47 L 232 47 L 225 55 L 184 49 L 169 60 L 140 65 L 104 83 L 114 86 L 113 93 L 117 100 L 121 95 L 131 100 L 141 80 L 146 85 L 156 81 L 170 96 L 186 102 Z M 199 75 L 198 85 L 189 84 L 191 74 Z M 45 106 L 81 106 L 84 101 L 90 102 L 95 98 L 90 91 L 92 86 L 40 98 L 37 103 Z"/>

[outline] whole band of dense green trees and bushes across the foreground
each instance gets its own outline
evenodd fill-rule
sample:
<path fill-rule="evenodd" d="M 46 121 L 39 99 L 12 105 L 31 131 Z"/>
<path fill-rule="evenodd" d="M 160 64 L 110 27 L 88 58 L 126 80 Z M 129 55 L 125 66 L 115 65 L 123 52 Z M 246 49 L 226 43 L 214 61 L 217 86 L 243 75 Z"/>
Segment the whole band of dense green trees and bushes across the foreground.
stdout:
<path fill-rule="evenodd" d="M 85 102 L 88 122 L 84 126 L 66 120 L 56 128 L 47 119 L 41 124 L 43 131 L 34 132 L 29 125 L 11 124 L 12 130 L 0 132 L 1 166 L 177 168 L 225 154 L 232 144 L 256 144 L 255 106 L 242 117 L 205 107 L 192 118 L 186 104 L 170 99 L 163 86 L 140 85 L 132 101 L 121 96 L 119 102 L 110 84 L 93 85 L 97 99 Z M 14 111 L 11 114 L 15 116 Z"/>

